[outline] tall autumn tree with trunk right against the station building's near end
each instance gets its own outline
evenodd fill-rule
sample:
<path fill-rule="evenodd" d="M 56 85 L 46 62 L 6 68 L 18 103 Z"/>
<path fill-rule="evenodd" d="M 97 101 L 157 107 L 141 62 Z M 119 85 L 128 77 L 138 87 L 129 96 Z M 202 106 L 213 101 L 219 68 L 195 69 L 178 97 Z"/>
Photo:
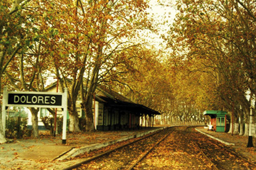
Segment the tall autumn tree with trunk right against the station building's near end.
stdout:
<path fill-rule="evenodd" d="M 96 8 L 99 6 L 100 8 Z M 130 56 L 122 53 L 128 49 L 138 46 L 136 42 L 130 42 L 130 38 L 138 35 L 138 30 L 150 29 L 151 24 L 148 20 L 146 8 L 147 1 L 94 1 L 90 4 L 93 13 L 100 16 L 96 21 L 98 26 L 96 42 L 93 43 L 94 65 L 90 82 L 88 83 L 87 93 L 82 94 L 82 103 L 86 109 L 86 129 L 90 130 L 93 126 L 92 121 L 92 94 L 98 84 L 99 78 L 104 80 L 110 70 L 113 70 L 120 63 L 129 62 Z M 88 74 L 88 75 L 89 75 Z M 99 76 L 98 76 L 99 75 Z M 82 91 L 83 92 L 83 91 Z M 86 91 L 85 91 L 86 92 Z"/>

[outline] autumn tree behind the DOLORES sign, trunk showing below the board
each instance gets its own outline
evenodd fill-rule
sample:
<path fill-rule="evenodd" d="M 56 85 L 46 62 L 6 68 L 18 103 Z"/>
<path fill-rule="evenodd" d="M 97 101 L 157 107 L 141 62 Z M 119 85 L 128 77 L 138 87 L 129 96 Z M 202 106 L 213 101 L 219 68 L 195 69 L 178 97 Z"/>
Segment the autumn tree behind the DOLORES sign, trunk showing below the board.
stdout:
<path fill-rule="evenodd" d="M 5 70 L 8 77 L 8 84 L 16 91 L 44 91 L 45 81 L 49 74 L 48 49 L 42 43 L 47 38 L 40 30 L 38 20 L 40 13 L 37 4 L 29 2 L 23 7 L 26 11 L 19 15 L 23 19 L 21 30 L 21 39 L 23 46 L 9 66 Z M 23 32 L 22 32 L 23 31 Z M 18 40 L 17 40 L 18 41 Z M 38 111 L 39 108 L 29 108 L 32 113 L 33 136 L 38 137 Z"/>

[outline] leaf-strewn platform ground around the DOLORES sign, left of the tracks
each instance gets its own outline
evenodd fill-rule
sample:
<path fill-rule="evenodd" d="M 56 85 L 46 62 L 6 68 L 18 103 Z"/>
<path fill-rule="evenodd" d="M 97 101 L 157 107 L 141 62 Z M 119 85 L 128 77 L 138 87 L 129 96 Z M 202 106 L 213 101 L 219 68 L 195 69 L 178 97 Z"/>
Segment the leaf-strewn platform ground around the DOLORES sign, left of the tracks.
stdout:
<path fill-rule="evenodd" d="M 127 131 L 96 131 L 67 134 L 67 144 L 62 144 L 62 135 L 51 136 L 40 132 L 40 138 L 18 139 L 11 143 L 0 144 L 0 169 L 63 169 L 79 160 L 51 161 L 72 147 L 115 140 L 124 136 L 141 133 L 154 128 Z"/>

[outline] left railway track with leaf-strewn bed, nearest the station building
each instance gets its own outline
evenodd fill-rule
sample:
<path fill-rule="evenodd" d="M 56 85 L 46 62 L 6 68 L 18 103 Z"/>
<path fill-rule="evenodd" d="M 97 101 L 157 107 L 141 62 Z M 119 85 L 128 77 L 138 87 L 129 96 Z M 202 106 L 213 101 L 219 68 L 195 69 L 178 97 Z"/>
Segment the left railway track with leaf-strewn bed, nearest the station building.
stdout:
<path fill-rule="evenodd" d="M 173 128 L 160 130 L 133 142 L 129 142 L 112 150 L 87 158 L 77 164 L 67 167 L 65 170 L 84 168 L 106 168 L 106 169 L 132 169 L 140 162 L 156 145 L 173 132 Z M 129 152 L 128 157 L 120 153 Z M 106 167 L 105 162 L 108 162 Z M 109 163 L 112 162 L 112 163 Z"/>

